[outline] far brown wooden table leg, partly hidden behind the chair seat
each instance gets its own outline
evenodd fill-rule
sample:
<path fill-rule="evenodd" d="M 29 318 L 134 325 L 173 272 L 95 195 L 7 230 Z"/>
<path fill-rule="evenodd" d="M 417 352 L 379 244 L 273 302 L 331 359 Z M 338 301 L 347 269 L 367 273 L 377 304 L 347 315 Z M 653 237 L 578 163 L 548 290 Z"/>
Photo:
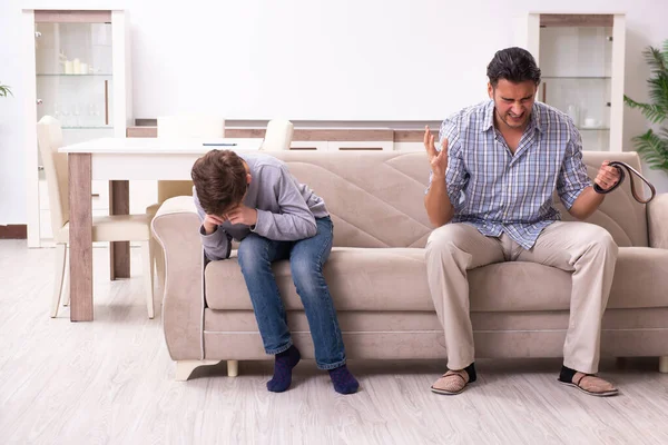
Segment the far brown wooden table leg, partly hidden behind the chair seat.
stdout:
<path fill-rule="evenodd" d="M 129 215 L 130 181 L 109 181 L 109 215 Z M 130 243 L 109 243 L 109 279 L 130 277 Z"/>

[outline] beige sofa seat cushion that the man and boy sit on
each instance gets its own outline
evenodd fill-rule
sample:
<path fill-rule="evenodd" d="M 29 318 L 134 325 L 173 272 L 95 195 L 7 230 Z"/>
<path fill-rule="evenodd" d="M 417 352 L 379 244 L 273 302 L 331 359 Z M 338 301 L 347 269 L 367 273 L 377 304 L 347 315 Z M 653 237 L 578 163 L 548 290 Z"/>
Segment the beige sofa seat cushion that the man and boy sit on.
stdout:
<path fill-rule="evenodd" d="M 303 310 L 289 264 L 275 263 L 274 274 L 287 310 Z M 423 249 L 335 247 L 325 264 L 325 278 L 337 310 L 434 310 Z M 571 275 L 553 267 L 500 263 L 470 270 L 469 283 L 472 312 L 569 308 Z M 205 288 L 212 309 L 253 309 L 235 257 L 208 264 Z M 619 249 L 609 308 L 666 307 L 666 289 L 668 250 Z"/>

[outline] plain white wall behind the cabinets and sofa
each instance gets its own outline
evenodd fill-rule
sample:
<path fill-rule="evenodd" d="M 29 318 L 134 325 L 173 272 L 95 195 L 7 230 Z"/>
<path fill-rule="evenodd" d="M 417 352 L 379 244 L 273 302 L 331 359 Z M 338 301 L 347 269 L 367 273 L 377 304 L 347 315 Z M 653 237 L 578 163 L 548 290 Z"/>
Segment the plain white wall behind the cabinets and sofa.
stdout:
<path fill-rule="evenodd" d="M 544 4 L 557 2 L 542 1 Z M 18 44 L 22 8 L 127 9 L 134 115 L 223 112 L 228 118 L 433 120 L 485 96 L 494 50 L 513 44 L 534 0 L 2 0 L 0 224 L 26 222 Z M 564 0 L 542 12 L 626 12 L 626 88 L 647 99 L 640 51 L 668 38 L 668 1 Z M 230 66 L 243 70 L 230 69 Z M 625 138 L 645 129 L 625 110 Z M 632 149 L 630 142 L 628 149 Z M 650 172 L 668 191 L 668 176 Z"/>

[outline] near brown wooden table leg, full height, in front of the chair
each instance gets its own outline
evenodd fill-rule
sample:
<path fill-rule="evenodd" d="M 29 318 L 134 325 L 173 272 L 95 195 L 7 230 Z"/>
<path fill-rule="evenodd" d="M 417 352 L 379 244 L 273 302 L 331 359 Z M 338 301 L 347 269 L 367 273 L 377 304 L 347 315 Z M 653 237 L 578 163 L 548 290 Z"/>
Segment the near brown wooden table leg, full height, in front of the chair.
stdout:
<path fill-rule="evenodd" d="M 90 154 L 69 154 L 70 320 L 92 320 Z"/>

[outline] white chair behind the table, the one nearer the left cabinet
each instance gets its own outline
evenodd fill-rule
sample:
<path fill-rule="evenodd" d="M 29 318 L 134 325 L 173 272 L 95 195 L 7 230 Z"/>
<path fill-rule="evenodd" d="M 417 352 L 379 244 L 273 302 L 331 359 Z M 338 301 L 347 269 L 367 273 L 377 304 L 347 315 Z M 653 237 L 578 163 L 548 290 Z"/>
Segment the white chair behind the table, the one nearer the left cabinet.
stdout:
<path fill-rule="evenodd" d="M 158 138 L 224 138 L 225 119 L 215 116 L 158 117 Z M 175 196 L 193 195 L 193 181 L 158 181 L 158 202 Z"/>

